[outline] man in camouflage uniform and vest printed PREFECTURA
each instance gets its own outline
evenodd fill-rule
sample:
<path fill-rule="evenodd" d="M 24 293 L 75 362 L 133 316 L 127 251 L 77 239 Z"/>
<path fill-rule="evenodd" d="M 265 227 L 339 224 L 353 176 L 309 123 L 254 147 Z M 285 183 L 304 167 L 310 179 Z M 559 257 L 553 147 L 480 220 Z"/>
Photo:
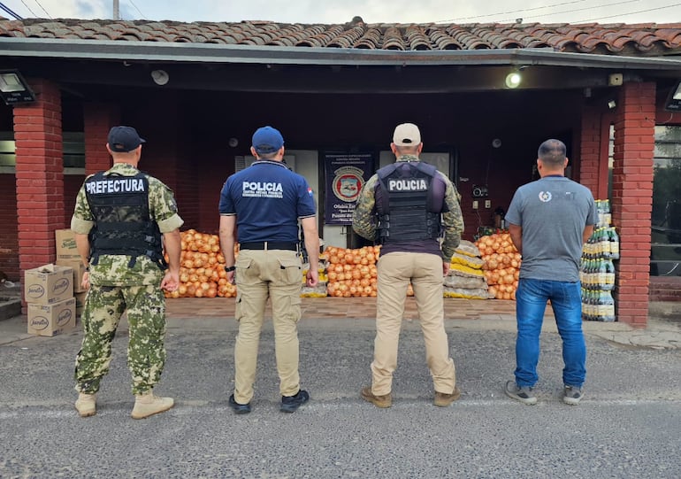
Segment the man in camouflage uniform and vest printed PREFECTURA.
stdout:
<path fill-rule="evenodd" d="M 83 286 L 88 288 L 75 367 L 75 389 L 80 393 L 75 406 L 81 417 L 96 413 L 96 392 L 109 372 L 111 341 L 123 312 L 130 328 L 132 417 L 162 413 L 174 404 L 172 398 L 155 396 L 152 389 L 165 364 L 163 290 L 179 285 L 183 221 L 172 190 L 137 169 L 142 143 L 132 127 L 111 128 L 106 148 L 113 166 L 86 178 L 71 220 L 87 271 Z"/>

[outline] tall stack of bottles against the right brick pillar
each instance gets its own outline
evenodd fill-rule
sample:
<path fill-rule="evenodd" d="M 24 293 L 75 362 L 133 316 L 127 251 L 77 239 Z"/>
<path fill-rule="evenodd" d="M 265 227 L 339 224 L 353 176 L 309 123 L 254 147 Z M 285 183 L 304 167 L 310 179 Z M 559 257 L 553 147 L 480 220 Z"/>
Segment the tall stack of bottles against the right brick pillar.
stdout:
<path fill-rule="evenodd" d="M 615 264 L 619 259 L 619 236 L 611 225 L 607 199 L 596 200 L 598 222 L 582 251 L 580 281 L 582 283 L 582 319 L 616 321 Z"/>

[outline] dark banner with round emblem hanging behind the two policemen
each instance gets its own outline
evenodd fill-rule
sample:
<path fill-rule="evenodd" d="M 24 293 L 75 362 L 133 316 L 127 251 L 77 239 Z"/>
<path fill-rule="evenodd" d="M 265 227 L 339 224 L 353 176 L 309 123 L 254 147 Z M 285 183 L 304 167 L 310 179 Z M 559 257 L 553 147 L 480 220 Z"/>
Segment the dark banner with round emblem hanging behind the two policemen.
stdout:
<path fill-rule="evenodd" d="M 324 166 L 324 222 L 327 225 L 350 225 L 359 192 L 373 174 L 373 155 L 326 153 Z"/>

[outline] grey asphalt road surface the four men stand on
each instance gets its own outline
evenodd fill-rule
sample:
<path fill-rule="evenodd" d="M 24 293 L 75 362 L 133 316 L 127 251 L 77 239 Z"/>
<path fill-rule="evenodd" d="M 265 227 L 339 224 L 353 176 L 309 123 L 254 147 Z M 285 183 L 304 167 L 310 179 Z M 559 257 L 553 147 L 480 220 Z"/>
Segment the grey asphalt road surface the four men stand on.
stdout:
<path fill-rule="evenodd" d="M 480 323 L 482 324 L 482 323 Z M 271 323 L 264 328 L 253 412 L 226 405 L 233 387 L 233 320 L 173 321 L 156 392 L 169 412 L 130 418 L 126 329 L 114 343 L 96 416 L 73 408 L 80 332 L 0 346 L 0 477 L 397 478 L 681 476 L 681 351 L 587 336 L 579 406 L 562 404 L 561 345 L 542 336 L 539 404 L 502 387 L 515 367 L 508 324 L 448 322 L 462 398 L 432 406 L 417 321 L 405 321 L 394 406 L 359 398 L 370 381 L 372 321 L 301 321 L 302 387 L 310 403 L 279 412 Z"/>

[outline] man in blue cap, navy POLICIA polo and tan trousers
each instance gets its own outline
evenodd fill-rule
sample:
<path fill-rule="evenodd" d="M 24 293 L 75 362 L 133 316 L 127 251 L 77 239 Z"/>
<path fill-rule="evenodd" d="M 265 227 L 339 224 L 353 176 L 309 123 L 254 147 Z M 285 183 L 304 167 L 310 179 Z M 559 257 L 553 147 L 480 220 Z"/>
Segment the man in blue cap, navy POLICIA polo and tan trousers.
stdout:
<path fill-rule="evenodd" d="M 283 162 L 284 138 L 261 127 L 250 149 L 256 161 L 227 178 L 220 193 L 220 247 L 227 279 L 236 274 L 234 317 L 239 334 L 234 346 L 234 392 L 229 406 L 250 413 L 256 382 L 257 350 L 267 299 L 279 372 L 280 410 L 294 413 L 310 396 L 300 387 L 297 323 L 301 318 L 302 261 L 298 221 L 310 267 L 307 285 L 317 286 L 319 237 L 312 189 Z M 239 243 L 235 259 L 234 244 Z"/>

